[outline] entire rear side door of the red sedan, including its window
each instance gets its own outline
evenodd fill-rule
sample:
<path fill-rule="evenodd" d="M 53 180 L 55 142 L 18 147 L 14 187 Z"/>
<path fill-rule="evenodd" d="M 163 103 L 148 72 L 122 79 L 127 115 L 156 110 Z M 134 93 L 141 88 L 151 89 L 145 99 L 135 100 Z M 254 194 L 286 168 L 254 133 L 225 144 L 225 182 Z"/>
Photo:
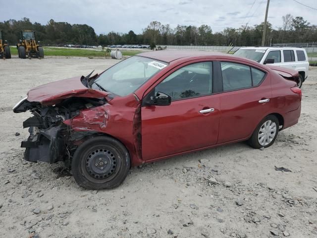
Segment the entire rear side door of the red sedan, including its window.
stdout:
<path fill-rule="evenodd" d="M 238 61 L 221 61 L 223 92 L 218 144 L 248 138 L 270 111 L 268 71 Z"/>

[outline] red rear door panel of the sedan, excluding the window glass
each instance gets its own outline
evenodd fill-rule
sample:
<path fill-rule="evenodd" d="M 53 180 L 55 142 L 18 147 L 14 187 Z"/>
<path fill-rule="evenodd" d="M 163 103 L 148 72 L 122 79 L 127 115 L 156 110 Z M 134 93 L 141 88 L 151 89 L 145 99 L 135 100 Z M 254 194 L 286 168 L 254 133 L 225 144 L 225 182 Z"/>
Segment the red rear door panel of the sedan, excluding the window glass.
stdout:
<path fill-rule="evenodd" d="M 220 93 L 219 97 L 219 144 L 251 136 L 259 122 L 274 111 L 271 102 L 259 103 L 271 98 L 270 75 L 258 87 Z"/>

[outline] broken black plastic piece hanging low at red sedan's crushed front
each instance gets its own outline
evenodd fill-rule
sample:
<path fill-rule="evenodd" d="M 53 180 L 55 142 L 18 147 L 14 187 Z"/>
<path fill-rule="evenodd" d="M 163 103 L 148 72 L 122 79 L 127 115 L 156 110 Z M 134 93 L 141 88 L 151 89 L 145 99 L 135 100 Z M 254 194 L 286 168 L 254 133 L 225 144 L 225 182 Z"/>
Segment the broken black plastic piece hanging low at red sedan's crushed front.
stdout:
<path fill-rule="evenodd" d="M 33 127 L 30 127 L 31 132 Z M 65 154 L 64 141 L 61 136 L 62 125 L 54 126 L 39 133 L 29 136 L 27 141 L 21 142 L 21 147 L 25 148 L 24 159 L 26 161 L 43 161 L 53 164 L 62 160 Z"/>

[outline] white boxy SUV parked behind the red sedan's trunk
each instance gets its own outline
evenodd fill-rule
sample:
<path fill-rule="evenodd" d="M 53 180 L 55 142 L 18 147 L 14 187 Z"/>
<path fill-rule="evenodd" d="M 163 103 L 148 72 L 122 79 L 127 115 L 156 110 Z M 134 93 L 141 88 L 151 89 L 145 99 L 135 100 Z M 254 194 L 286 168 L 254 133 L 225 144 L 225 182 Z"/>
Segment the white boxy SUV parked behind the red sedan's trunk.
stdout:
<path fill-rule="evenodd" d="M 242 47 L 235 56 L 255 60 L 262 64 L 273 64 L 291 68 L 299 73 L 298 87 L 302 87 L 308 76 L 309 62 L 305 49 L 291 47 Z"/>

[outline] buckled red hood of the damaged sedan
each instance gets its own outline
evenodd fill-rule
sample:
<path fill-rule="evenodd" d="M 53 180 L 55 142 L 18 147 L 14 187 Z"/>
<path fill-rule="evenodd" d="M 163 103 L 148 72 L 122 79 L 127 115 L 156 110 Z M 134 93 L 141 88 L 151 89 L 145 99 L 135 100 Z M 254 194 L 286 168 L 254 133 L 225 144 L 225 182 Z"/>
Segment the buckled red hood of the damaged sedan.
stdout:
<path fill-rule="evenodd" d="M 42 105 L 54 105 L 70 97 L 105 98 L 109 93 L 87 88 L 82 84 L 83 76 L 63 79 L 31 89 L 27 101 L 40 102 Z"/>

